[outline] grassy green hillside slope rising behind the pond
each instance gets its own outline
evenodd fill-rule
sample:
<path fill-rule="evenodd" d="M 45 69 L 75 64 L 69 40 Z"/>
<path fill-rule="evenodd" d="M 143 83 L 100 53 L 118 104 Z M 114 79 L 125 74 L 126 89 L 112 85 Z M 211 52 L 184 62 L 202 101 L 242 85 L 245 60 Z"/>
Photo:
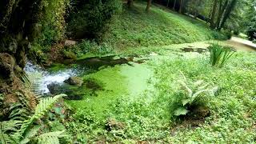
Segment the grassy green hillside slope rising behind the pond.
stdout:
<path fill-rule="evenodd" d="M 104 42 L 114 48 L 166 46 L 170 44 L 225 39 L 226 37 L 201 21 L 152 6 L 145 13 L 145 4 L 135 3 L 131 10 L 123 8 L 114 18 Z"/>

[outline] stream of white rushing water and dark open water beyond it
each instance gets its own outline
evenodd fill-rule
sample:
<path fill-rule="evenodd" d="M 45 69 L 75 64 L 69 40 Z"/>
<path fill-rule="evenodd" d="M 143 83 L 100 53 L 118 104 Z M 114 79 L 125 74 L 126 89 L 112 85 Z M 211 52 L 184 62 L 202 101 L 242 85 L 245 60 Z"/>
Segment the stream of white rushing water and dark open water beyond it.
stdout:
<path fill-rule="evenodd" d="M 131 63 L 142 63 L 148 58 L 120 58 L 117 56 L 106 56 L 106 57 L 92 57 L 84 58 L 74 62 L 76 68 L 67 66 L 64 70 L 58 70 L 58 72 L 49 72 L 43 69 L 41 66 L 34 65 L 32 62 L 27 62 L 24 70 L 30 78 L 31 88 L 36 94 L 50 94 L 48 85 L 52 83 L 58 83 L 62 85 L 64 81 L 70 77 L 81 76 L 82 74 L 89 74 L 96 72 L 107 66 L 115 66 L 126 64 L 132 66 Z M 130 63 L 131 62 L 131 63 Z"/>

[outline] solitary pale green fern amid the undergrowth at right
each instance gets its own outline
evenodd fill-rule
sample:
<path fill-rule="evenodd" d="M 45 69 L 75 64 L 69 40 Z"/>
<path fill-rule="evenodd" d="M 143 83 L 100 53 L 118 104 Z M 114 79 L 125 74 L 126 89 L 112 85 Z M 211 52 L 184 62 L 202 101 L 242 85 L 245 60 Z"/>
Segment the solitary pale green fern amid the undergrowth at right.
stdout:
<path fill-rule="evenodd" d="M 195 106 L 199 99 L 205 99 L 203 97 L 210 97 L 218 90 L 217 86 L 211 87 L 210 83 L 206 83 L 202 80 L 196 82 L 189 82 L 183 75 L 184 80 L 178 81 L 180 84 L 180 92 L 176 95 L 174 115 L 181 116 L 190 112 L 190 107 Z"/>

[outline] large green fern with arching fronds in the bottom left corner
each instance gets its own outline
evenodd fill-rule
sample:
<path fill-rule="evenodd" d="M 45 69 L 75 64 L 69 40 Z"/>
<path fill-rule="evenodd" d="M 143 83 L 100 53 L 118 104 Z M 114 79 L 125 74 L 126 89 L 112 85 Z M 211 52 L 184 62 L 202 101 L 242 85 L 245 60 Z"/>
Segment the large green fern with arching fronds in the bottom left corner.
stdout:
<path fill-rule="evenodd" d="M 0 122 L 0 141 L 2 144 L 22 143 L 26 144 L 30 141 L 38 143 L 58 143 L 58 138 L 64 137 L 64 131 L 55 131 L 46 134 L 38 134 L 42 128 L 39 125 L 34 125 L 42 118 L 52 107 L 58 102 L 59 98 L 66 96 L 59 94 L 55 97 L 42 98 L 36 106 L 34 114 L 26 120 L 10 120 Z M 50 142 L 51 141 L 51 142 Z"/>

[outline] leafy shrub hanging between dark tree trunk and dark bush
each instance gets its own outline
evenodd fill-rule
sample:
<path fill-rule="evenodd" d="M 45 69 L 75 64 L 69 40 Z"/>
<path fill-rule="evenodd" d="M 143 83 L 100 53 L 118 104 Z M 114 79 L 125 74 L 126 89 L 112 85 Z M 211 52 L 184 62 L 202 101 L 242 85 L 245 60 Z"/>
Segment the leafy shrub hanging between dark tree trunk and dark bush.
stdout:
<path fill-rule="evenodd" d="M 41 13 L 37 15 L 39 22 L 34 26 L 34 33 L 38 37 L 31 44 L 32 49 L 28 58 L 37 63 L 43 63 L 50 58 L 45 54 L 50 52 L 50 47 L 65 38 L 64 16 L 69 0 L 42 0 L 37 5 L 41 8 Z"/>

